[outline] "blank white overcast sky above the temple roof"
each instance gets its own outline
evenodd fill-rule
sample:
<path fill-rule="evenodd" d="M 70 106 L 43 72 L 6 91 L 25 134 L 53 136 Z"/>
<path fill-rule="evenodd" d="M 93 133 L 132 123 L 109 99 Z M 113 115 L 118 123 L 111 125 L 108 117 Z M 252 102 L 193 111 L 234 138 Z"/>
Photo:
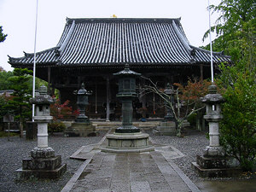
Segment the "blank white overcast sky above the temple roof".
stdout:
<path fill-rule="evenodd" d="M 221 0 L 210 0 L 218 4 Z M 7 55 L 33 53 L 37 0 L 0 0 L 0 26 L 8 37 L 0 43 L 0 66 L 12 70 Z M 201 46 L 209 28 L 208 0 L 38 0 L 37 51 L 54 47 L 66 18 L 178 18 L 190 44 Z M 218 15 L 212 15 L 212 23 Z"/>

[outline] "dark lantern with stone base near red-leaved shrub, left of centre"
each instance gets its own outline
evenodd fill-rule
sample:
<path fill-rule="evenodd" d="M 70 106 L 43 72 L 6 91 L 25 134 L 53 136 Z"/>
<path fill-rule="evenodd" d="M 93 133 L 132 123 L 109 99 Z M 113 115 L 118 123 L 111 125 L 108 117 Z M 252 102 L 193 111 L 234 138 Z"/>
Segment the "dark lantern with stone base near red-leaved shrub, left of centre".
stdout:
<path fill-rule="evenodd" d="M 89 105 L 88 96 L 90 95 L 91 93 L 84 89 L 83 83 L 77 93 L 79 116 L 70 127 L 67 127 L 64 133 L 66 137 L 94 137 L 98 135 L 96 127 L 91 124 L 90 119 L 85 115 L 85 107 Z"/>

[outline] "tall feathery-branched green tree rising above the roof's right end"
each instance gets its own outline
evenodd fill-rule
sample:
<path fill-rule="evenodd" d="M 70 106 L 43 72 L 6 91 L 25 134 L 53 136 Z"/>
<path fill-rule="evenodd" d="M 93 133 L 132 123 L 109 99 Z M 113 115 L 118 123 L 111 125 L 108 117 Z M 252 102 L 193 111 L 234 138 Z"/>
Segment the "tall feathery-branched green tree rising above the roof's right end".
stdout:
<path fill-rule="evenodd" d="M 212 42 L 212 49 L 224 50 L 225 54 L 231 55 L 232 61 L 236 64 L 247 57 L 248 52 L 254 52 L 255 56 L 255 0 L 222 0 L 218 6 L 211 5 L 210 9 L 212 12 L 220 13 L 216 25 L 211 29 L 218 36 Z M 208 35 L 209 30 L 203 40 Z M 205 48 L 209 49 L 209 45 Z M 247 63 L 249 64 L 252 62 Z"/>

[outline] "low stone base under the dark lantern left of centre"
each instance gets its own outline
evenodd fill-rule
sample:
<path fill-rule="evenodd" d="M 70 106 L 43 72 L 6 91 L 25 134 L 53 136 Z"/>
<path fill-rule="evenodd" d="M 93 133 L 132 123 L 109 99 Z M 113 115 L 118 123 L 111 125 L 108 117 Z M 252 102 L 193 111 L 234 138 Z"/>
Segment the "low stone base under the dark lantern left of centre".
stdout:
<path fill-rule="evenodd" d="M 64 132 L 66 137 L 95 137 L 99 133 L 96 131 L 96 127 L 91 125 L 90 122 L 87 123 L 73 123 Z"/>

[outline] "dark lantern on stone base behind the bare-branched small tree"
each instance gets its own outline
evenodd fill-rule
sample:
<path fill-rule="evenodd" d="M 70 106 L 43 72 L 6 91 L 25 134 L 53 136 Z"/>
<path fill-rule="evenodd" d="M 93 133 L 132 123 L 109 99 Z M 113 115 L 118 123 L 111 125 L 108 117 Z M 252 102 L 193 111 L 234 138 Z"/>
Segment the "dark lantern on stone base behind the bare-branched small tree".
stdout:
<path fill-rule="evenodd" d="M 164 92 L 167 95 L 168 101 L 174 103 L 173 94 L 174 91 L 172 90 L 171 84 L 166 85 L 166 90 Z M 166 116 L 164 117 L 164 120 L 160 122 L 160 125 L 157 126 L 153 133 L 158 136 L 176 136 L 176 123 L 174 119 L 174 115 L 171 108 L 167 107 L 166 102 Z"/>

